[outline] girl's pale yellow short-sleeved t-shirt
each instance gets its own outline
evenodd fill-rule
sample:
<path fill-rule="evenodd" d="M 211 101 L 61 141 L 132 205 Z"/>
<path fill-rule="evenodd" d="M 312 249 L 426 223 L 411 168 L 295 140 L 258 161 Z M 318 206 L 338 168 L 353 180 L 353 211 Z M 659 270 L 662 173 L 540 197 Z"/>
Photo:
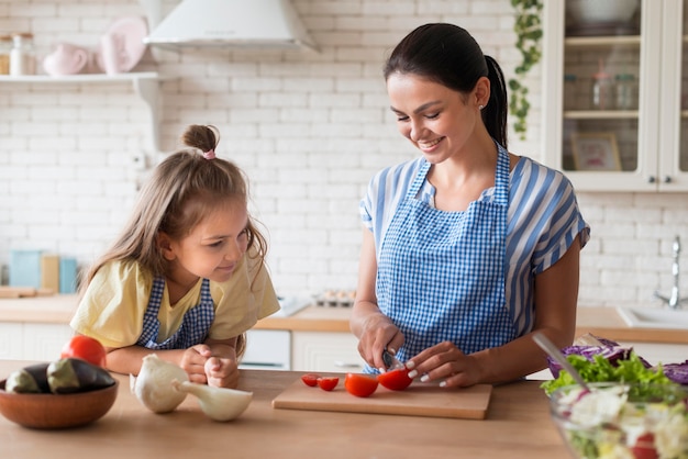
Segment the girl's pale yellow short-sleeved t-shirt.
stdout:
<path fill-rule="evenodd" d="M 174 305 L 167 286 L 160 301 L 157 342 L 162 343 L 181 325 L 184 314 L 200 302 L 202 279 Z M 101 267 L 81 299 L 69 325 L 107 347 L 136 344 L 143 329 L 153 276 L 136 261 L 111 261 Z M 259 318 L 279 311 L 273 282 L 259 259 L 244 255 L 226 282 L 210 282 L 215 318 L 209 337 L 228 339 L 253 327 Z"/>

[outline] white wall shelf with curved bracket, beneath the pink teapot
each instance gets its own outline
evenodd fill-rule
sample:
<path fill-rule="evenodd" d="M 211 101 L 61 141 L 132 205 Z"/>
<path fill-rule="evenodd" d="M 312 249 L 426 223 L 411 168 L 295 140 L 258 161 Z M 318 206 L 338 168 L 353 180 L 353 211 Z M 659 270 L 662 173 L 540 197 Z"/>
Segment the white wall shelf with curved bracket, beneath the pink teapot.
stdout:
<path fill-rule="evenodd" d="M 0 83 L 36 83 L 36 85 L 97 85 L 124 82 L 133 85 L 136 94 L 146 103 L 151 115 L 151 149 L 152 153 L 160 152 L 159 147 L 159 93 L 160 77 L 154 71 L 129 72 L 118 75 L 84 74 L 53 77 L 49 75 L 25 75 L 20 77 L 0 75 Z M 141 165 L 141 167 L 145 167 Z"/>

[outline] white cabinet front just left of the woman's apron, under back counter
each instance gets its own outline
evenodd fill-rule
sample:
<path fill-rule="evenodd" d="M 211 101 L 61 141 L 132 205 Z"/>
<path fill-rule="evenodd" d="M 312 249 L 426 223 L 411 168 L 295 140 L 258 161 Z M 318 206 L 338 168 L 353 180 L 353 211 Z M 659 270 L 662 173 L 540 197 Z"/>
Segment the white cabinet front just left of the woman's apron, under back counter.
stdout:
<path fill-rule="evenodd" d="M 292 332 L 295 371 L 360 372 L 365 365 L 358 339 L 348 333 Z"/>

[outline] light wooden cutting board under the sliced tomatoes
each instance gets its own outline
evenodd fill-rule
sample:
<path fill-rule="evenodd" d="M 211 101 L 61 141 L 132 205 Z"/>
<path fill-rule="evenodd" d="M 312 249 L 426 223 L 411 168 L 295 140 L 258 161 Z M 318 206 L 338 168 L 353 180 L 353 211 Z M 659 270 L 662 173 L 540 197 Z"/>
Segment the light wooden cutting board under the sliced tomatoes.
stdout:
<path fill-rule="evenodd" d="M 346 392 L 342 377 L 331 392 L 308 387 L 299 379 L 273 400 L 273 407 L 484 419 L 491 393 L 489 384 L 445 389 L 413 382 L 403 391 L 390 391 L 379 385 L 373 395 L 364 399 Z"/>

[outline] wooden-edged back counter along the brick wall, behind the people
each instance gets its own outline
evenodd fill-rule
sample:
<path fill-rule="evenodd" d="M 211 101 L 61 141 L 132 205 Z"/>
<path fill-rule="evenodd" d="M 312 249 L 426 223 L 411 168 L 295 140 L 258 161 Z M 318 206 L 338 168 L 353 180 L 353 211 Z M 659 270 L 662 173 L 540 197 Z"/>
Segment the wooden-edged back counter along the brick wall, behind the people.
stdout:
<path fill-rule="evenodd" d="M 67 324 L 77 305 L 77 295 L 0 299 L 0 323 L 35 322 Z M 308 306 L 287 317 L 266 317 L 256 329 L 351 333 L 348 307 Z M 576 336 L 591 333 L 619 342 L 688 344 L 688 331 L 629 327 L 614 307 L 579 306 Z"/>

